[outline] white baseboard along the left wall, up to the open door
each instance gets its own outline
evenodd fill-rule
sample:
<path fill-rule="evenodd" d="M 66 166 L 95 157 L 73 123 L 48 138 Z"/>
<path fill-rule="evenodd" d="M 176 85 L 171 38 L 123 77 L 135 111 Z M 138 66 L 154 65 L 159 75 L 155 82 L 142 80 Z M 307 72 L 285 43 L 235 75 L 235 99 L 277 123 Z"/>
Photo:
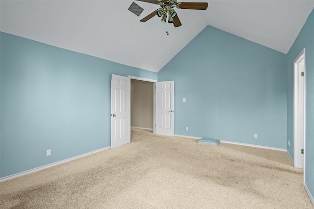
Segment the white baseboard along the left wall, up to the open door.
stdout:
<path fill-rule="evenodd" d="M 10 176 L 5 176 L 5 177 L 0 178 L 0 182 L 4 182 L 4 181 L 10 180 L 10 179 L 14 179 L 14 178 L 17 178 L 17 177 L 20 177 L 20 176 L 24 176 L 24 175 L 27 175 L 27 174 L 30 174 L 30 173 L 34 173 L 36 171 L 40 171 L 40 170 L 43 170 L 43 169 L 46 169 L 46 168 L 49 168 L 49 167 L 52 167 L 52 166 L 55 166 L 55 165 L 58 165 L 58 164 L 66 163 L 66 162 L 69 162 L 69 161 L 73 161 L 73 160 L 76 160 L 78 158 L 85 157 L 87 155 L 91 155 L 91 154 L 94 154 L 96 152 L 100 152 L 100 151 L 103 151 L 103 150 L 106 150 L 106 149 L 110 149 L 110 146 L 102 148 L 102 149 L 97 149 L 97 150 L 94 150 L 92 152 L 88 152 L 88 153 L 85 153 L 85 154 L 82 154 L 82 155 L 78 155 L 76 157 L 68 158 L 68 159 L 65 159 L 65 160 L 62 160 L 62 161 L 58 161 L 58 162 L 55 162 L 55 163 L 50 163 L 50 164 L 47 164 L 47 165 L 43 165 L 43 166 L 40 166 L 40 167 L 36 167 L 36 168 L 30 169 L 30 170 L 23 171 L 23 172 L 20 172 L 20 173 L 12 174 Z"/>

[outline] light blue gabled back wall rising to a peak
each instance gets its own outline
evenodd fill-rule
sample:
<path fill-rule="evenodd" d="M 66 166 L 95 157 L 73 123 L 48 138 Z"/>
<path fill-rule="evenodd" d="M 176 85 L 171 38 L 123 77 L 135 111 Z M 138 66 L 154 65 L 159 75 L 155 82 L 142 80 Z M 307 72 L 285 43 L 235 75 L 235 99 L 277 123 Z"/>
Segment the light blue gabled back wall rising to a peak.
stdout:
<path fill-rule="evenodd" d="M 283 53 L 207 26 L 158 72 L 175 83 L 175 134 L 286 149 L 286 63 Z"/>

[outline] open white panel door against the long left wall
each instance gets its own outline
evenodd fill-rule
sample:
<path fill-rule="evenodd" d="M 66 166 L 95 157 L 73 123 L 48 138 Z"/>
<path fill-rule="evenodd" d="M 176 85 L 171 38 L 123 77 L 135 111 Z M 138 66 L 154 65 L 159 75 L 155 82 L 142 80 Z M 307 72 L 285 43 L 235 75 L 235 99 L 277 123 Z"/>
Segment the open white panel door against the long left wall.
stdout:
<path fill-rule="evenodd" d="M 131 79 L 111 74 L 111 148 L 131 142 Z"/>

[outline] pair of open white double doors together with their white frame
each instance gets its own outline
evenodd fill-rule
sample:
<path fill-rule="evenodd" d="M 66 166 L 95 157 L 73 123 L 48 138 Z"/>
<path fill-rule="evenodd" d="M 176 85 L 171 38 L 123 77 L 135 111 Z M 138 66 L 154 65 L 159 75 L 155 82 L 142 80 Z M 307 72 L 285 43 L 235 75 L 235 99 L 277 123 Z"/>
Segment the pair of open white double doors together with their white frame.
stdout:
<path fill-rule="evenodd" d="M 111 74 L 111 148 L 131 142 L 131 79 L 153 83 L 153 133 L 174 136 L 174 81 Z"/>

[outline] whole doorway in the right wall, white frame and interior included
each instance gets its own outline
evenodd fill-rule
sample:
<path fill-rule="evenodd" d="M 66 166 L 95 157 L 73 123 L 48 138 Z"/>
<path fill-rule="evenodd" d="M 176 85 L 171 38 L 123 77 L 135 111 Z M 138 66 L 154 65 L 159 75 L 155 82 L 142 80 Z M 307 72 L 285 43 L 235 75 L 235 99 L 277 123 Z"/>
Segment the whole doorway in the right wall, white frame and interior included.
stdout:
<path fill-rule="evenodd" d="M 305 48 L 294 59 L 293 156 L 294 167 L 304 168 L 305 159 Z M 304 171 L 305 173 L 305 171 Z"/>

